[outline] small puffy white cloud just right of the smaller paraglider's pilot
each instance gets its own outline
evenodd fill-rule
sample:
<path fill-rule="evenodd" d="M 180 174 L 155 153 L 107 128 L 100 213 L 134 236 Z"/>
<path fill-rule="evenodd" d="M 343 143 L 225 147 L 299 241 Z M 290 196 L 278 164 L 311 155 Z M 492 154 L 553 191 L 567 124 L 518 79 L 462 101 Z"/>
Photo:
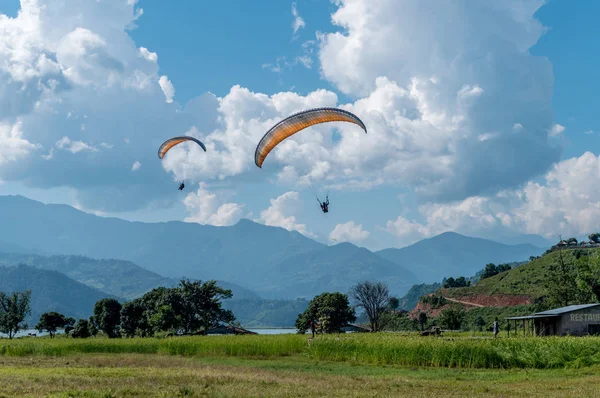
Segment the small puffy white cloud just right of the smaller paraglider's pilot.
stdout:
<path fill-rule="evenodd" d="M 222 203 L 216 194 L 207 191 L 202 184 L 196 193 L 189 193 L 183 203 L 190 213 L 185 218 L 186 222 L 228 226 L 237 223 L 243 216 L 244 205 Z"/>

